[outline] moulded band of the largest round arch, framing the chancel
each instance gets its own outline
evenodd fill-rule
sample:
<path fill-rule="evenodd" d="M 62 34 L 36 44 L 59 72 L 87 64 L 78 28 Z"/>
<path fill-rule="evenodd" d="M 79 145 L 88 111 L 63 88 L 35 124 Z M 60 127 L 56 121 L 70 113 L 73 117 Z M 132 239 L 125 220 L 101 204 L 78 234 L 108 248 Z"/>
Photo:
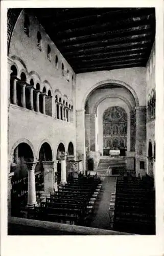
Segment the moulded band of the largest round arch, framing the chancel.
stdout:
<path fill-rule="evenodd" d="M 104 80 L 104 81 L 101 81 L 101 82 L 98 82 L 96 84 L 93 84 L 93 86 L 91 86 L 89 88 L 89 90 L 87 90 L 87 92 L 85 93 L 83 99 L 82 99 L 82 103 L 81 103 L 81 109 L 84 109 L 84 106 L 85 106 L 85 102 L 87 100 L 87 98 L 89 97 L 90 93 L 95 90 L 95 89 L 98 89 L 98 88 L 101 88 L 103 87 L 104 85 L 106 84 L 109 84 L 109 83 L 112 83 L 112 84 L 116 84 L 118 86 L 122 86 L 122 87 L 125 87 L 126 89 L 128 89 L 131 94 L 133 95 L 134 99 L 135 99 L 135 106 L 139 106 L 139 100 L 138 100 L 138 97 L 136 95 L 136 92 L 134 91 L 133 88 L 131 88 L 129 86 L 129 84 L 123 82 L 123 81 L 120 81 L 120 80 L 112 80 L 112 79 L 107 79 L 107 80 Z"/>

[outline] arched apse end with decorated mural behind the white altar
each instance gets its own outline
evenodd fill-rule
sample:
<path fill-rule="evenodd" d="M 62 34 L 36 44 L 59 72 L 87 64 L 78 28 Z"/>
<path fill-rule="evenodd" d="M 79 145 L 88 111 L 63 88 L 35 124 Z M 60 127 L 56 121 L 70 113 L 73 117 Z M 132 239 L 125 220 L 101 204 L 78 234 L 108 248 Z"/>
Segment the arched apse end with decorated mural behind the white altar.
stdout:
<path fill-rule="evenodd" d="M 103 114 L 103 155 L 118 149 L 121 156 L 126 155 L 127 113 L 120 106 L 111 106 Z"/>

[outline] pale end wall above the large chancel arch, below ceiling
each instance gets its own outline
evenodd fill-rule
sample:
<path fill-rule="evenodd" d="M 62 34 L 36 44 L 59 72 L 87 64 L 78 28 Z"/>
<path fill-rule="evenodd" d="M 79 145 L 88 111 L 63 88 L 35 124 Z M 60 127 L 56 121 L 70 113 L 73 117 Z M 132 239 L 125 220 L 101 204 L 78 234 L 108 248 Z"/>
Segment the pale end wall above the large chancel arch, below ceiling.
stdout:
<path fill-rule="evenodd" d="M 119 81 L 128 84 L 135 92 L 139 105 L 146 105 L 146 68 L 128 68 L 111 71 L 98 71 L 77 74 L 76 76 L 76 108 L 84 108 L 88 94 L 103 81 Z"/>

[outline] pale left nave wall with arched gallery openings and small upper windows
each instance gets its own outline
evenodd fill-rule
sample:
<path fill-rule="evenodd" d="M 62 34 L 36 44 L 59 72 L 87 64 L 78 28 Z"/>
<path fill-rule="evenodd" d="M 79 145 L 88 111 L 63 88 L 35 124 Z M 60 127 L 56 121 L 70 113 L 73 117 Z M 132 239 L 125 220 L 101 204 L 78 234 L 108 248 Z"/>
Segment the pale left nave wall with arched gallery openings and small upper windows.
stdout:
<path fill-rule="evenodd" d="M 67 152 L 68 143 L 74 144 L 74 153 L 76 155 L 76 115 L 75 115 L 75 90 L 76 75 L 63 58 L 51 38 L 45 33 L 38 20 L 29 15 L 30 19 L 30 37 L 24 32 L 25 13 L 21 12 L 16 26 L 14 28 L 9 56 L 8 56 L 8 99 L 9 99 L 9 133 L 8 133 L 8 152 L 12 160 L 14 147 L 23 141 L 29 141 L 33 147 L 34 157 L 38 158 L 42 142 L 48 142 L 53 151 L 53 160 L 56 160 L 57 147 L 63 142 Z M 36 46 L 37 32 L 40 32 L 41 51 Z M 51 59 L 47 57 L 48 44 L 51 47 Z M 58 66 L 55 65 L 55 56 L 58 56 Z M 61 71 L 61 63 L 64 64 L 64 75 Z M 20 106 L 10 103 L 10 67 L 15 65 L 18 71 L 17 77 L 24 72 L 27 76 L 27 82 L 34 80 L 40 83 L 40 90 L 43 86 L 52 92 L 52 117 L 37 113 Z M 69 70 L 69 81 L 67 79 L 67 70 Z M 72 79 L 73 76 L 73 79 Z M 58 120 L 56 118 L 55 95 L 61 96 L 68 104 L 73 105 L 72 122 Z"/>

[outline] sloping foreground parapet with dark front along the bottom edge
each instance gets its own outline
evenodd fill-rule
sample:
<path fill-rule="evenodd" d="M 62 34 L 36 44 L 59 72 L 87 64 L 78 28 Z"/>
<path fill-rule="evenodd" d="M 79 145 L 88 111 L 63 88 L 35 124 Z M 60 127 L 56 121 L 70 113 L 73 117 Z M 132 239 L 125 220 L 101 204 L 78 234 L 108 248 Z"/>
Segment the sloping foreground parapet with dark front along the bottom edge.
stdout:
<path fill-rule="evenodd" d="M 131 233 L 62 224 L 50 221 L 38 221 L 17 217 L 8 218 L 8 234 L 79 234 L 79 235 L 132 235 Z M 24 233 L 25 232 L 25 233 Z"/>

